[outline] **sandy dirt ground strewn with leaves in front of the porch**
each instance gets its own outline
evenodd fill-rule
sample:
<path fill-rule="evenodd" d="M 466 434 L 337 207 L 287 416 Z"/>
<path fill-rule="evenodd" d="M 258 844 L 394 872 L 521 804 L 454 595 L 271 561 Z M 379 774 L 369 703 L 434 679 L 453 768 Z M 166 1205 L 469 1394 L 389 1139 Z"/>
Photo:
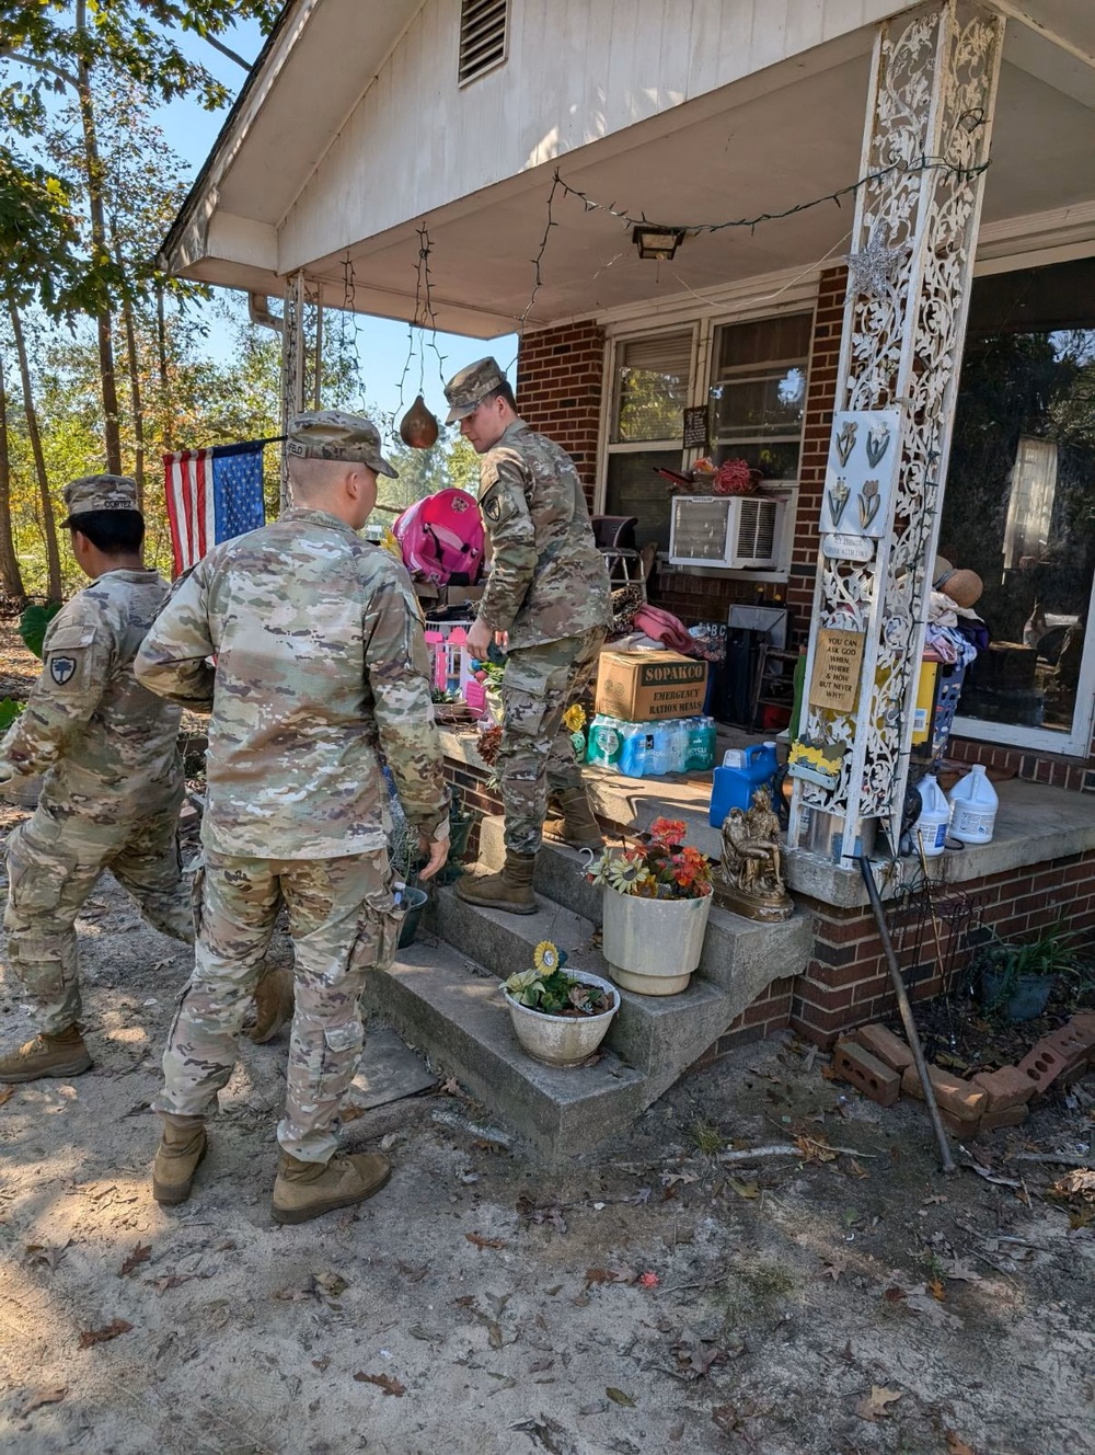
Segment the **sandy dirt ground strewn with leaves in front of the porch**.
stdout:
<path fill-rule="evenodd" d="M 778 1037 L 548 1173 L 439 1067 L 346 1126 L 388 1187 L 279 1228 L 286 1033 L 243 1042 L 190 1202 L 159 1208 L 189 952 L 109 879 L 79 928 L 95 1069 L 0 1088 L 3 1455 L 1095 1452 L 1095 1208 L 1031 1160 L 1091 1163 L 1095 1078 L 945 1179 L 922 1106 Z"/>

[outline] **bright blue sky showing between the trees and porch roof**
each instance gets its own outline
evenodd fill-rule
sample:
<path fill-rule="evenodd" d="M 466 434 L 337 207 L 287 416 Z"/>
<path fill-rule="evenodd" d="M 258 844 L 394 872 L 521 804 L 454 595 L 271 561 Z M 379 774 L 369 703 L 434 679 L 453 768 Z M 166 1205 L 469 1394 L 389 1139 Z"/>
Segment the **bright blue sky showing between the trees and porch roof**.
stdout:
<path fill-rule="evenodd" d="M 262 49 L 262 33 L 254 22 L 244 22 L 222 36 L 224 42 L 237 51 L 244 60 L 253 61 Z M 212 47 L 205 45 L 199 36 L 179 36 L 182 48 L 206 70 L 212 71 L 218 80 L 234 93 L 246 80 L 243 70 L 233 61 L 220 55 Z M 164 128 L 169 144 L 186 163 L 190 175 L 195 176 L 202 162 L 212 150 L 217 135 L 224 124 L 225 112 L 202 111 L 192 100 L 175 100 L 161 106 L 157 112 L 160 125 Z M 240 295 L 241 297 L 241 295 Z M 329 327 L 339 329 L 339 316 L 329 316 Z M 233 348 L 233 330 L 227 323 L 211 319 L 208 336 L 208 351 L 214 356 L 225 358 Z M 409 330 L 406 323 L 394 323 L 390 319 L 374 319 L 368 314 L 358 316 L 358 338 L 361 343 L 361 368 L 365 381 L 365 397 L 385 413 L 397 413 L 400 404 L 400 375 L 407 359 Z M 499 362 L 505 368 L 516 355 L 516 339 L 509 335 L 484 343 L 483 339 L 465 339 L 455 333 L 438 333 L 438 351 L 445 359 L 446 377 L 455 374 L 458 368 L 471 364 L 487 352 L 496 352 Z M 417 349 L 425 346 L 425 394 L 426 403 L 439 412 L 444 399 L 441 394 L 439 365 L 436 355 L 429 346 L 429 336 L 416 338 L 416 355 L 407 371 L 407 381 L 403 388 L 404 406 L 410 404 L 417 391 L 419 362 Z"/>

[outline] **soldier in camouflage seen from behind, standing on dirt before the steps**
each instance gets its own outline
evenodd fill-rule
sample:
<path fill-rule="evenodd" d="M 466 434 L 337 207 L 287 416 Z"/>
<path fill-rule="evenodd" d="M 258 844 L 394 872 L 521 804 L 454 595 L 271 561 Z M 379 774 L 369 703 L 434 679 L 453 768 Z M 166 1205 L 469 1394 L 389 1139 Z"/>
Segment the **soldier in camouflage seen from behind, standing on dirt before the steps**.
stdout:
<path fill-rule="evenodd" d="M 295 1013 L 273 1216 L 302 1222 L 364 1200 L 390 1173 L 378 1154 L 339 1155 L 336 1136 L 362 1046 L 365 976 L 396 953 L 401 921 L 381 755 L 429 854 L 423 879 L 448 854 L 448 790 L 410 581 L 356 534 L 377 474 L 396 473 L 380 435 L 353 415 L 300 415 L 286 454 L 294 508 L 193 567 L 137 675 L 211 710 L 195 969 L 163 1058 L 153 1195 L 189 1196 L 285 902 Z"/>

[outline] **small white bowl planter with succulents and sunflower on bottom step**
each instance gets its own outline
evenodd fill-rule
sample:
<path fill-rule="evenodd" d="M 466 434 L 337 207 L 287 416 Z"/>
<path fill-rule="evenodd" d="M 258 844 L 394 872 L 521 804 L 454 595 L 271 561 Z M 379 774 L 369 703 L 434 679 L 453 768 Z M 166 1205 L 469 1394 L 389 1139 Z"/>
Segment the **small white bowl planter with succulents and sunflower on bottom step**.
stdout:
<path fill-rule="evenodd" d="M 550 1067 L 580 1067 L 605 1039 L 619 1010 L 619 991 L 587 970 L 567 970 L 566 950 L 541 940 L 532 969 L 500 986 L 524 1049 Z"/>

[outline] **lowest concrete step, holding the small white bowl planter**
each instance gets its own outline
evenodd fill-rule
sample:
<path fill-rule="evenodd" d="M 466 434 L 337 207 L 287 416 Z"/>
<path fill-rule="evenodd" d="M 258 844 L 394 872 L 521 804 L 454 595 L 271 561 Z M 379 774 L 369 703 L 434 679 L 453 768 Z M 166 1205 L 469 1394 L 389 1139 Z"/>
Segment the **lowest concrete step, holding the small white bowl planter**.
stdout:
<path fill-rule="evenodd" d="M 625 1131 L 660 1094 L 611 1051 L 574 1069 L 532 1061 L 513 1033 L 497 976 L 446 944 L 401 950 L 391 969 L 369 976 L 365 1007 L 547 1161 Z"/>

